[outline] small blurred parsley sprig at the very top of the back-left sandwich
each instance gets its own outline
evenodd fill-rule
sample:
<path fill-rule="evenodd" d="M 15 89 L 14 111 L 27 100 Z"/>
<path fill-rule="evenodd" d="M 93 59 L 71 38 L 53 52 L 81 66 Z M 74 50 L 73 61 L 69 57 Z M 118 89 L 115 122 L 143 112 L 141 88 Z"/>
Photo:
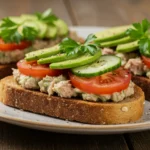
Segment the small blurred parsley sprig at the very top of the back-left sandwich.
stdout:
<path fill-rule="evenodd" d="M 48 25 L 54 25 L 54 21 L 56 21 L 58 18 L 52 13 L 51 9 L 47 9 L 43 13 L 36 13 L 35 14 L 37 18 L 40 21 L 43 21 L 44 23 Z"/>

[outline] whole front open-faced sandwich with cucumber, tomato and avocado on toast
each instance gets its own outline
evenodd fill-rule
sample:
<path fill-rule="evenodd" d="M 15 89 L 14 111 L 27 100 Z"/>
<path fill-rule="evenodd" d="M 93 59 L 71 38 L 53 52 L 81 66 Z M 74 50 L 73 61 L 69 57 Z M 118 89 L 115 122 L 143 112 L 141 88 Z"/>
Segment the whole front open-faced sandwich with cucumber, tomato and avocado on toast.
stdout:
<path fill-rule="evenodd" d="M 0 82 L 0 100 L 19 109 L 90 124 L 120 124 L 143 114 L 144 93 L 115 55 L 101 55 L 94 35 L 84 44 L 26 54 Z"/>

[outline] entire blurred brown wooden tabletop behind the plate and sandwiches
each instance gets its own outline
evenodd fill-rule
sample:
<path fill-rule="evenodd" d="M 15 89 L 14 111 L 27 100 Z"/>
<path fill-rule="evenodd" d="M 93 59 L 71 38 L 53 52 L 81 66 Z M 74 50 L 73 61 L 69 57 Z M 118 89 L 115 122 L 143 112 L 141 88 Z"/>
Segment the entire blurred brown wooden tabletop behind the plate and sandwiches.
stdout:
<path fill-rule="evenodd" d="M 116 26 L 150 18 L 150 0 L 0 0 L 0 18 L 52 8 L 68 25 Z"/>

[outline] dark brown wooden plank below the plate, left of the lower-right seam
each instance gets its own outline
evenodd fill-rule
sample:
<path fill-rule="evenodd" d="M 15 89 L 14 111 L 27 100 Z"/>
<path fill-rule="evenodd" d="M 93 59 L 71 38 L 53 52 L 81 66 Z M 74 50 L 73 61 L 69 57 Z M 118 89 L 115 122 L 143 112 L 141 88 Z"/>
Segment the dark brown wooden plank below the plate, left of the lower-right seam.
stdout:
<path fill-rule="evenodd" d="M 44 132 L 0 122 L 1 150 L 128 150 L 122 135 Z"/>

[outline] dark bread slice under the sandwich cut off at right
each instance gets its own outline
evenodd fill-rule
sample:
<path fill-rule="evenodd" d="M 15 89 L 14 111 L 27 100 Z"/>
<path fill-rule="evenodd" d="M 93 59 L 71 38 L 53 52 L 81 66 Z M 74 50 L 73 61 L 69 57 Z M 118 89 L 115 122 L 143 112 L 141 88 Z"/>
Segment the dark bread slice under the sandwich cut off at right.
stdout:
<path fill-rule="evenodd" d="M 150 101 L 150 79 L 142 76 L 132 76 L 132 81 L 145 93 L 145 99 Z"/>

